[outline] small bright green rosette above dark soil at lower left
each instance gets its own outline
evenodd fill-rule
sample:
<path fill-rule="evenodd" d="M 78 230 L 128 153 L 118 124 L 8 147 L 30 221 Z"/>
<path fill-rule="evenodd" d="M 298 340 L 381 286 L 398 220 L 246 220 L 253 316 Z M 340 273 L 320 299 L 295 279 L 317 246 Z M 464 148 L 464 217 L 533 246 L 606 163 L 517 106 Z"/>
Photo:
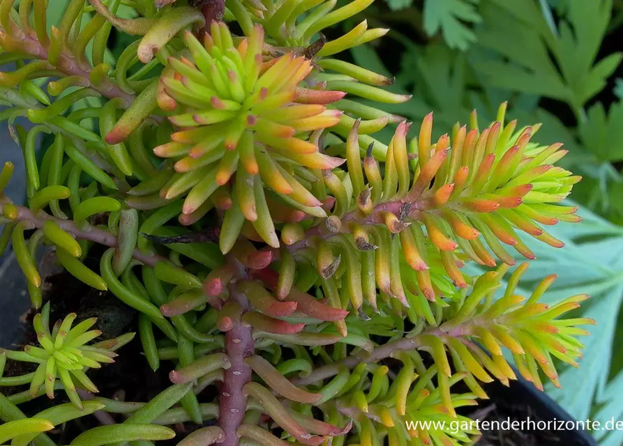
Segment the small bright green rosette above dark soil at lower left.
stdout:
<path fill-rule="evenodd" d="M 23 352 L 3 350 L 10 360 L 38 364 L 31 375 L 30 397 L 35 398 L 42 391 L 54 398 L 54 385 L 59 378 L 70 401 L 82 410 L 82 401 L 77 394 L 75 383 L 90 392 L 98 392 L 96 385 L 85 373 L 88 369 L 99 369 L 101 364 L 114 362 L 114 350 L 129 342 L 134 334 L 126 334 L 110 341 L 87 345 L 98 337 L 100 330 L 89 330 L 97 322 L 90 318 L 72 327 L 76 314 L 70 313 L 62 321 L 57 321 L 50 331 L 50 303 L 43 306 L 33 317 L 33 328 L 39 346 L 25 346 Z"/>

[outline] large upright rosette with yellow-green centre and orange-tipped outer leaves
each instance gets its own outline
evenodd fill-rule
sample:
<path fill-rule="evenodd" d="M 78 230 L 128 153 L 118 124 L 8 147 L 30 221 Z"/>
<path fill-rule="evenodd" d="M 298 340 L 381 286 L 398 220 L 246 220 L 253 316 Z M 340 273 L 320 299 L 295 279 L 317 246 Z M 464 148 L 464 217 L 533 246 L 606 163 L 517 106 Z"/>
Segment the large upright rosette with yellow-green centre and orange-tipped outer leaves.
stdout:
<path fill-rule="evenodd" d="M 174 175 L 161 191 L 165 199 L 186 194 L 183 215 L 205 209 L 218 187 L 232 184 L 236 216 L 225 226 L 235 237 L 244 220 L 269 245 L 278 238 L 268 211 L 264 185 L 286 201 L 325 215 L 322 203 L 295 176 L 301 169 L 331 169 L 343 160 L 324 155 L 310 132 L 339 122 L 341 112 L 325 104 L 345 93 L 299 86 L 311 61 L 292 52 L 263 61 L 264 30 L 253 28 L 234 46 L 223 23 L 214 22 L 202 45 L 192 33 L 184 38 L 193 61 L 170 58 L 160 79 L 160 107 L 179 112 L 169 119 L 179 131 L 154 148 L 176 159 Z M 234 177 L 235 174 L 235 177 Z M 310 173 L 307 174 L 309 176 Z M 226 252 L 227 243 L 222 246 Z"/>

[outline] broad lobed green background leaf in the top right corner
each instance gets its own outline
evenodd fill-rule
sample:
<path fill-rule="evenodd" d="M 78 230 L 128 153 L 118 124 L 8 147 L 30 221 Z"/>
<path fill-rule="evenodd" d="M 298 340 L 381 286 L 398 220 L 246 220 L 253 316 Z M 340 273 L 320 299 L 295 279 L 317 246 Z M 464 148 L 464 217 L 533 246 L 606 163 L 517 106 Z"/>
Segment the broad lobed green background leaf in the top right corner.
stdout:
<path fill-rule="evenodd" d="M 540 4 L 547 8 L 545 1 Z M 568 0 L 565 5 L 555 27 L 546 20 L 550 12 L 543 13 L 534 0 L 484 2 L 485 25 L 476 36 L 497 58 L 474 68 L 488 74 L 493 86 L 567 102 L 581 119 L 583 106 L 606 86 L 622 54 L 596 61 L 610 22 L 611 0 Z"/>

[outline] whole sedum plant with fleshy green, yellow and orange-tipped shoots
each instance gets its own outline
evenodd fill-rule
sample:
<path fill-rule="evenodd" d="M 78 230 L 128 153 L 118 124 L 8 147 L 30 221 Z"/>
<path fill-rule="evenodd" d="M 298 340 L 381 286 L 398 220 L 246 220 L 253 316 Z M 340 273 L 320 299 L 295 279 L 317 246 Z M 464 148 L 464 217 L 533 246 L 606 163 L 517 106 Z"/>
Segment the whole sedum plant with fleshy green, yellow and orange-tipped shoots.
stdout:
<path fill-rule="evenodd" d="M 15 63 L 0 119 L 27 167 L 25 206 L 3 194 L 13 164 L 0 172 L 0 251 L 13 245 L 42 307 L 39 345 L 0 351 L 0 387 L 25 386 L 0 393 L 0 443 L 54 446 L 43 432 L 92 416 L 71 445 L 463 445 L 468 424 L 411 422 L 467 422 L 483 383 L 542 389 L 559 385 L 555 361 L 577 366 L 594 321 L 566 314 L 587 296 L 548 306 L 554 276 L 523 296 L 527 264 L 509 271 L 513 252 L 534 258 L 526 237 L 562 247 L 543 226 L 579 220 L 559 204 L 580 179 L 555 165 L 566 151 L 505 104 L 436 141 L 430 114 L 408 139 L 410 123 L 358 99 L 409 97 L 338 59 L 387 30 L 364 20 L 326 41 L 371 2 L 336 3 L 136 0 L 120 17 L 119 0 L 70 0 L 48 24 L 56 1 L 0 0 L 0 62 Z M 116 59 L 113 26 L 135 36 Z M 50 330 L 42 243 L 136 312 L 133 360 L 170 380 L 153 399 L 96 395 L 89 369 L 133 334 L 88 344 L 100 333 L 75 314 Z M 470 261 L 489 272 L 465 274 Z M 34 368 L 3 376 L 7 361 Z M 55 390 L 70 403 L 22 411 Z"/>

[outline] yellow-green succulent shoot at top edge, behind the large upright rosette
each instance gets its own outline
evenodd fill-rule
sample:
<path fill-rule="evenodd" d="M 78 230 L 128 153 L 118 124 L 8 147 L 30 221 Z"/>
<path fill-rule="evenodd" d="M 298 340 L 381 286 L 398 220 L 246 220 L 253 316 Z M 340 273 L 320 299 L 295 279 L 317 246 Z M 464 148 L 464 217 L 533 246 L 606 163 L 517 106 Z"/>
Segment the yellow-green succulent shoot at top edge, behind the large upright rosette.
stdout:
<path fill-rule="evenodd" d="M 393 84 L 393 79 L 354 63 L 336 59 L 340 52 L 381 38 L 389 29 L 368 29 L 368 20 L 363 20 L 334 40 L 326 41 L 322 36 L 324 29 L 359 15 L 371 3 L 372 0 L 356 0 L 336 8 L 336 1 L 226 2 L 247 36 L 250 35 L 253 24 L 262 25 L 267 34 L 266 52 L 271 56 L 280 56 L 294 50 L 296 54 L 313 59 L 315 70 L 310 74 L 308 83 L 316 89 L 343 91 L 349 97 L 354 96 L 354 99 L 364 98 L 386 104 L 406 102 L 411 95 L 391 93 L 380 88 Z M 375 155 L 384 160 L 387 146 L 371 137 L 370 133 L 382 130 L 388 123 L 399 123 L 403 118 L 350 98 L 334 102 L 329 107 L 345 112 L 340 116 L 339 123 L 330 130 L 334 136 L 340 138 L 347 136 L 354 118 L 369 120 L 361 128 L 361 148 L 366 150 L 370 142 L 375 142 Z"/>

